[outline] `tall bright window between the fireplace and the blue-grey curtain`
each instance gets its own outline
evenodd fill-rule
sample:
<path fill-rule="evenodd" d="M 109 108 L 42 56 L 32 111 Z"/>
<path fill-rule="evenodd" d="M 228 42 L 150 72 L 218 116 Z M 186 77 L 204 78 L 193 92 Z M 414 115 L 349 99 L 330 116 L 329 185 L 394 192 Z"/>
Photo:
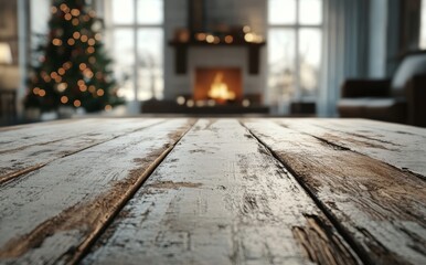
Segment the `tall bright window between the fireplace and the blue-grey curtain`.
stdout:
<path fill-rule="evenodd" d="M 270 102 L 315 102 L 321 64 L 322 0 L 268 0 L 267 40 Z"/>

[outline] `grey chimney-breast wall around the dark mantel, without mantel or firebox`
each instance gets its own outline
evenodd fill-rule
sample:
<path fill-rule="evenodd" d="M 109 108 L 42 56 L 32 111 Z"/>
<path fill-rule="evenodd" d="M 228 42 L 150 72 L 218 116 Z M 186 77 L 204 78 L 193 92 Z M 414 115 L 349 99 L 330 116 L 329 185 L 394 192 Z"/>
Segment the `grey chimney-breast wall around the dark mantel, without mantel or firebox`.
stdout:
<path fill-rule="evenodd" d="M 258 75 L 249 75 L 247 50 L 244 47 L 193 47 L 189 51 L 189 71 L 185 75 L 174 73 L 174 50 L 168 45 L 173 39 L 174 30 L 188 26 L 188 0 L 164 1 L 164 98 L 174 99 L 179 95 L 191 94 L 194 83 L 193 67 L 199 66 L 242 66 L 243 92 L 265 93 L 266 89 L 266 47 L 262 51 L 262 65 Z M 206 28 L 220 24 L 245 25 L 265 35 L 266 1 L 215 0 L 206 2 Z"/>

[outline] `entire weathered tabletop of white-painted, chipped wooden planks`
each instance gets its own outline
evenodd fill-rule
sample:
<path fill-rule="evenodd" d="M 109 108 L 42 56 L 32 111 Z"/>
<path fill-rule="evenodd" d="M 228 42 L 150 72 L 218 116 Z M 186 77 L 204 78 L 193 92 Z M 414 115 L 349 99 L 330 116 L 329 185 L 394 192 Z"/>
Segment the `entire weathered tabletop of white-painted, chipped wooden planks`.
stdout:
<path fill-rule="evenodd" d="M 426 129 L 97 118 L 0 129 L 1 264 L 426 264 Z"/>

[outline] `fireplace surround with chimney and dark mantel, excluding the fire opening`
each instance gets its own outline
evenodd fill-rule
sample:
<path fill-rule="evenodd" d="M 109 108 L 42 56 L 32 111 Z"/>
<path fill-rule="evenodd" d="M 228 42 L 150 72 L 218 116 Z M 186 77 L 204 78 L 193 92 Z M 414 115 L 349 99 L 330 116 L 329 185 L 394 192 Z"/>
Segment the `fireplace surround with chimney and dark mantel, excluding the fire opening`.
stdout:
<path fill-rule="evenodd" d="M 265 35 L 264 20 L 257 17 L 265 4 L 255 0 L 247 0 L 251 2 L 247 6 L 241 6 L 237 0 L 194 0 L 191 8 L 192 0 L 177 1 L 168 2 L 167 9 L 172 10 L 170 6 L 173 6 L 173 12 L 168 13 L 168 19 L 173 23 L 168 23 L 166 29 L 169 41 L 164 56 L 163 98 L 175 103 L 183 97 L 190 100 L 190 105 L 193 102 L 194 107 L 198 107 L 196 102 L 201 102 L 201 106 L 203 100 L 210 98 L 206 92 L 202 97 L 194 93 L 198 70 L 238 68 L 241 92 L 236 93 L 235 99 L 223 103 L 215 100 L 214 108 L 242 106 L 244 99 L 251 102 L 251 107 L 262 106 L 267 100 L 266 41 L 247 39 L 251 41 L 247 42 L 244 30 L 247 31 L 248 25 L 248 33 Z M 187 11 L 178 15 L 175 10 L 183 9 Z M 209 43 L 207 36 L 213 42 Z"/>

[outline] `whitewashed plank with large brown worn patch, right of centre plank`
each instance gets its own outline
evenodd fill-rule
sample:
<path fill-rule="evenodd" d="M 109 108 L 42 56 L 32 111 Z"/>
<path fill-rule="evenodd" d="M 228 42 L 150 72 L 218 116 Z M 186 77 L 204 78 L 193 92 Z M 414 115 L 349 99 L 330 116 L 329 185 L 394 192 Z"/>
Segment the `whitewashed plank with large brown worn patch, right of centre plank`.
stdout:
<path fill-rule="evenodd" d="M 277 123 L 244 125 L 296 174 L 364 262 L 425 263 L 423 179 Z"/>

